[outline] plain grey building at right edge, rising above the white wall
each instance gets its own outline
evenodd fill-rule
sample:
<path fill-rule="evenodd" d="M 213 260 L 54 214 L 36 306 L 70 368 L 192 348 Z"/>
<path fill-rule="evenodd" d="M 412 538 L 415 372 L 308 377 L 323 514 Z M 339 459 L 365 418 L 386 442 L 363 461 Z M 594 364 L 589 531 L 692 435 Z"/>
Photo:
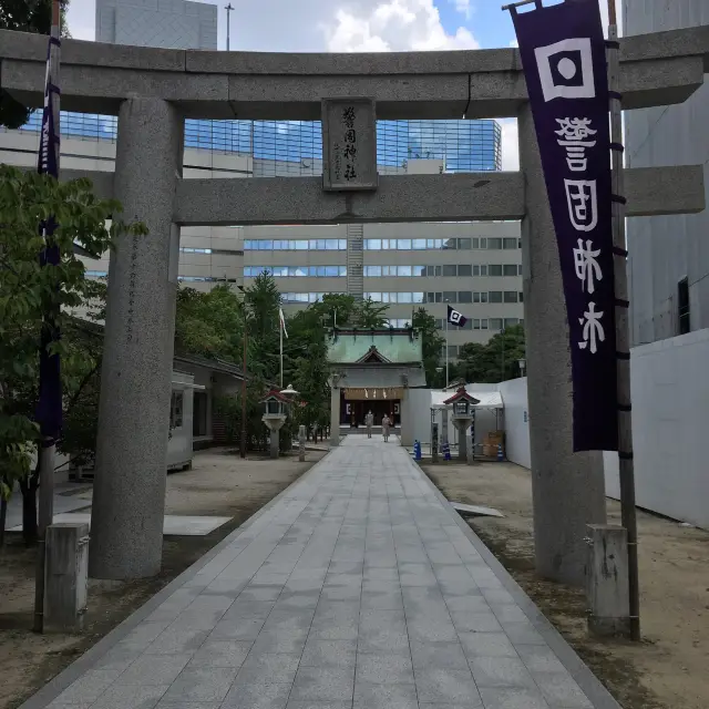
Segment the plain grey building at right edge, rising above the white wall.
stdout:
<path fill-rule="evenodd" d="M 625 34 L 709 24 L 707 0 L 624 0 Z M 625 115 L 629 167 L 709 162 L 709 85 L 685 103 Z M 708 191 L 709 179 L 705 177 Z M 628 219 L 631 345 L 709 328 L 709 210 Z"/>

